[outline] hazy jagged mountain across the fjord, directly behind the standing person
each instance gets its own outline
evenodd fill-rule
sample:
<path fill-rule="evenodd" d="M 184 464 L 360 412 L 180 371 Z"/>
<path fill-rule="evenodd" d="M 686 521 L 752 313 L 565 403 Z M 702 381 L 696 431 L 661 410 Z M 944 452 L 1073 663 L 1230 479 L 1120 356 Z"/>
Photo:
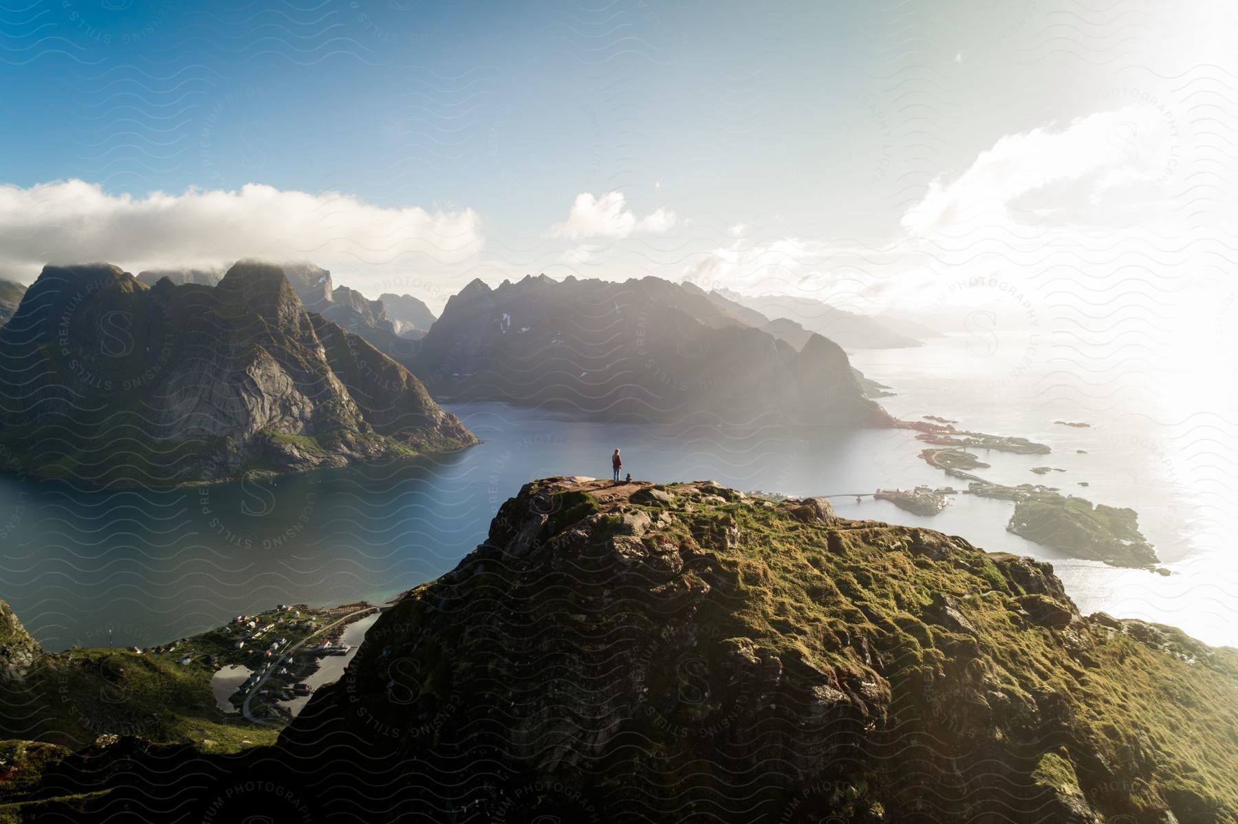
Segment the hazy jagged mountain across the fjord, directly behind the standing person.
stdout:
<path fill-rule="evenodd" d="M 412 371 L 436 393 L 612 417 L 891 423 L 832 341 L 815 337 L 797 353 L 701 290 L 655 277 L 474 281 L 448 301 Z"/>

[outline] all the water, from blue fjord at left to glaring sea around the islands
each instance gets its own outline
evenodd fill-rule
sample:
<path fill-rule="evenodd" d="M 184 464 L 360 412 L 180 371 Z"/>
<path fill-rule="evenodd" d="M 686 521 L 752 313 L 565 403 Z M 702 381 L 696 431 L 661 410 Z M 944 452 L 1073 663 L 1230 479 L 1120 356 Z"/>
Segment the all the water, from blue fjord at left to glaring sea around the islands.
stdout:
<path fill-rule="evenodd" d="M 993 468 L 979 474 L 1136 509 L 1175 574 L 1063 559 L 1005 531 L 1013 507 L 1006 501 L 956 496 L 926 518 L 846 496 L 952 483 L 917 458 L 924 444 L 909 431 L 683 429 L 447 402 L 482 445 L 197 489 L 99 491 L 2 478 L 0 598 L 50 650 L 149 646 L 281 603 L 386 599 L 452 569 L 485 539 L 495 510 L 521 484 L 546 475 L 605 476 L 609 454 L 620 447 L 624 471 L 638 479 L 843 495 L 833 502 L 847 517 L 928 526 L 990 551 L 1052 560 L 1084 611 L 1156 620 L 1212 643 L 1238 643 L 1238 615 L 1226 595 L 1233 591 L 1227 589 L 1232 568 L 1200 542 L 1195 502 L 1162 459 L 1177 444 L 1161 429 L 1096 414 L 1088 429 L 1055 424 L 1055 414 L 1066 412 L 1052 398 L 1010 402 L 1009 387 L 995 388 L 993 377 L 993 366 L 1004 366 L 987 361 L 988 370 L 978 369 L 957 339 L 853 358 L 899 391 L 881 401 L 895 414 L 942 414 L 962 427 L 1050 444 L 1050 455 L 983 453 Z M 1037 465 L 1067 471 L 1030 474 Z M 1091 486 L 1078 487 L 1080 480 Z"/>

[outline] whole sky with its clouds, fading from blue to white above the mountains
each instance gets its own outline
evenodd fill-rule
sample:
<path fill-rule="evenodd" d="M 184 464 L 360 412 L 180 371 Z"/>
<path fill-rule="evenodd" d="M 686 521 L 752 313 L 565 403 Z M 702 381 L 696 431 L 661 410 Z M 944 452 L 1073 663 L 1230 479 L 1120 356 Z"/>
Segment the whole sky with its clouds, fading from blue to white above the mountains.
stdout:
<path fill-rule="evenodd" d="M 0 275 L 254 254 L 314 259 L 369 292 L 417 275 L 432 303 L 527 271 L 872 306 L 891 302 L 898 275 L 922 302 L 947 275 L 904 245 L 976 212 L 968 197 L 1004 220 L 1047 181 L 1066 205 L 1025 209 L 1013 230 L 1083 231 L 1102 172 L 1125 162 L 1143 179 L 1191 153 L 1198 100 L 1174 78 L 1222 59 L 1232 15 L 1156 0 L 1103 11 L 21 0 L 0 6 Z M 1127 114 L 1071 132 L 1104 113 Z M 1065 136 L 1020 140 L 1037 130 Z M 1092 156 L 1072 144 L 1088 136 L 1106 156 L 1070 181 L 1045 173 L 1046 157 Z M 1003 140 L 1049 153 L 985 166 Z M 1011 177 L 1020 163 L 1040 177 Z M 968 192 L 951 188 L 964 178 Z M 71 179 L 92 188 L 51 186 Z M 933 187 L 947 195 L 926 223 Z"/>

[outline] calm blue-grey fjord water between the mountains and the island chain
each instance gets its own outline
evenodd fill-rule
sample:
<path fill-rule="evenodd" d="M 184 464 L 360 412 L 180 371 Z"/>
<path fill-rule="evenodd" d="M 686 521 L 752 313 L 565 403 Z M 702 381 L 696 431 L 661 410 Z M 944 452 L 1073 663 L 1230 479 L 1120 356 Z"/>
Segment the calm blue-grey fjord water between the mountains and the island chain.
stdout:
<path fill-rule="evenodd" d="M 449 406 L 485 443 L 201 489 L 97 491 L 0 479 L 0 522 L 21 507 L 0 538 L 0 598 L 52 650 L 83 643 L 99 627 L 113 627 L 118 646 L 150 646 L 279 603 L 386 599 L 454 567 L 522 484 L 603 475 L 617 445 L 636 478 L 652 480 L 713 478 L 807 494 L 932 479 L 906 432 L 740 434 Z"/>

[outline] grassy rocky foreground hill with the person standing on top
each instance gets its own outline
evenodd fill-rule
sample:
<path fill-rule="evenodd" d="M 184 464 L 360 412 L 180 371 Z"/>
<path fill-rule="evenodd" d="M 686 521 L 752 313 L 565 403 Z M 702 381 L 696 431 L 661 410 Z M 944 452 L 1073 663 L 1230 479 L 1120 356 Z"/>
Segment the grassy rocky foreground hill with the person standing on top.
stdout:
<path fill-rule="evenodd" d="M 281 749 L 373 820 L 1233 822 L 1238 656 L 823 500 L 547 479 Z"/>

